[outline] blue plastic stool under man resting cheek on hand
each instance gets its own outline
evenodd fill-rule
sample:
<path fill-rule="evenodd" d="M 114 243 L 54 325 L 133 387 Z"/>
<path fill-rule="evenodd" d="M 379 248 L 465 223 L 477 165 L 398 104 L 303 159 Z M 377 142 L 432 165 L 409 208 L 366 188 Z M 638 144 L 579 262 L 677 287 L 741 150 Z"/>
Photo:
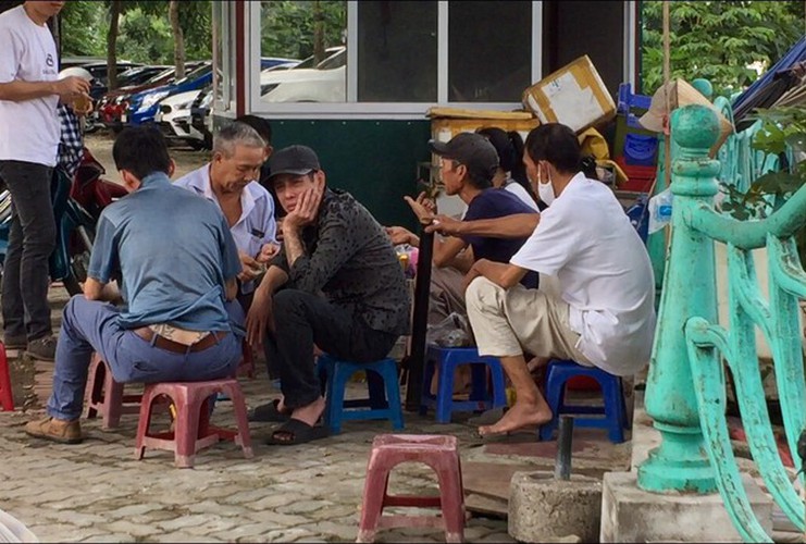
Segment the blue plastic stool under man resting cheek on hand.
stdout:
<path fill-rule="evenodd" d="M 352 374 L 361 371 L 367 371 L 370 397 L 345 400 L 347 381 Z M 340 433 L 342 421 L 345 420 L 388 419 L 396 431 L 404 428 L 400 386 L 395 359 L 386 358 L 361 363 L 321 355 L 317 361 L 317 374 L 324 390 L 324 424 L 331 429 L 331 433 Z M 352 409 L 365 407 L 369 409 Z"/>

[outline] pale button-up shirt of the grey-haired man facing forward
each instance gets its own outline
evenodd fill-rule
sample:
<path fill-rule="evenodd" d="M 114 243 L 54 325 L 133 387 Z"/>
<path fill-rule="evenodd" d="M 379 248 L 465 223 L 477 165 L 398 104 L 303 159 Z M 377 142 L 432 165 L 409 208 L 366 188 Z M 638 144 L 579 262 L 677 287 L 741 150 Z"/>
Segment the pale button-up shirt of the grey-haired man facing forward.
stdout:
<path fill-rule="evenodd" d="M 221 208 L 210 186 L 210 163 L 185 174 L 174 182 L 179 187 L 193 190 Z M 240 194 L 240 218 L 230 227 L 238 251 L 256 257 L 264 244 L 277 242 L 277 224 L 274 221 L 274 199 L 258 182 L 250 182 Z M 255 282 L 241 285 L 243 293 L 255 290 Z"/>

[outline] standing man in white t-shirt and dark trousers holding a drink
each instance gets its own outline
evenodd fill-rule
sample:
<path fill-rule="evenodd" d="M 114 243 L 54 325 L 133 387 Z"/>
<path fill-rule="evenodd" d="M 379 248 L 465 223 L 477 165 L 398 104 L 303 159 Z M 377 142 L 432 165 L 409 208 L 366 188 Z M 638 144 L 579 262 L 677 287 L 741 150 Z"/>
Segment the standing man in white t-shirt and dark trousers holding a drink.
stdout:
<path fill-rule="evenodd" d="M 50 180 L 59 149 L 57 104 L 88 97 L 79 77 L 57 81 L 59 59 L 47 21 L 64 2 L 25 2 L 0 14 L 0 177 L 11 191 L 3 263 L 5 347 L 53 360 L 48 257 L 55 245 Z"/>

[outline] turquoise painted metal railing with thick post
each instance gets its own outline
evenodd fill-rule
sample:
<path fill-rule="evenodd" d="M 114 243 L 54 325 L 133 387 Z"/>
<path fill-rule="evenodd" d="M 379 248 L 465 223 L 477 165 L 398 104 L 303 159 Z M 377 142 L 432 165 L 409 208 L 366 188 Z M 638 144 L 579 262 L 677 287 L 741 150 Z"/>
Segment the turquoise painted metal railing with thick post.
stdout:
<path fill-rule="evenodd" d="M 715 102 L 730 116 L 730 106 Z M 806 273 L 793 234 L 806 224 L 806 186 L 764 220 L 739 221 L 715 209 L 717 178 L 746 190 L 774 158 L 754 151 L 758 125 L 732 135 L 720 160 L 708 157 L 719 137 L 716 113 L 687 106 L 672 113 L 671 246 L 646 387 L 646 409 L 660 446 L 638 467 L 638 486 L 653 492 L 719 491 L 740 535 L 772 542 L 753 514 L 726 420 L 724 363 L 736 386 L 747 443 L 779 507 L 804 531 L 804 505 L 778 452 L 756 347 L 756 327 L 772 354 L 776 383 L 793 457 L 806 428 L 806 381 L 798 299 Z M 715 242 L 728 252 L 728 323 L 719 323 Z M 769 299 L 758 286 L 753 251 L 768 254 Z M 796 459 L 797 469 L 801 460 Z"/>

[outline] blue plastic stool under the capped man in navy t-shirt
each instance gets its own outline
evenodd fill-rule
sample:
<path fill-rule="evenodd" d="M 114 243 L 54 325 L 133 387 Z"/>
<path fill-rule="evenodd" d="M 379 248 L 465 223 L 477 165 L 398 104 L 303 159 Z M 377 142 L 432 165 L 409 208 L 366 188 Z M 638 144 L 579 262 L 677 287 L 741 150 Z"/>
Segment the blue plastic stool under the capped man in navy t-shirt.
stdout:
<path fill-rule="evenodd" d="M 431 380 L 436 364 L 439 366 L 439 378 L 436 395 L 432 395 Z M 454 379 L 457 367 L 461 364 L 471 364 L 470 398 L 454 400 Z M 492 395 L 487 384 L 487 369 L 493 379 Z M 504 406 L 507 406 L 507 392 L 504 385 L 504 368 L 497 357 L 480 357 L 475 347 L 439 347 L 433 344 L 427 347 L 420 400 L 421 416 L 424 416 L 429 408 L 436 408 L 436 421 L 449 423 L 454 411 L 489 410 Z"/>

